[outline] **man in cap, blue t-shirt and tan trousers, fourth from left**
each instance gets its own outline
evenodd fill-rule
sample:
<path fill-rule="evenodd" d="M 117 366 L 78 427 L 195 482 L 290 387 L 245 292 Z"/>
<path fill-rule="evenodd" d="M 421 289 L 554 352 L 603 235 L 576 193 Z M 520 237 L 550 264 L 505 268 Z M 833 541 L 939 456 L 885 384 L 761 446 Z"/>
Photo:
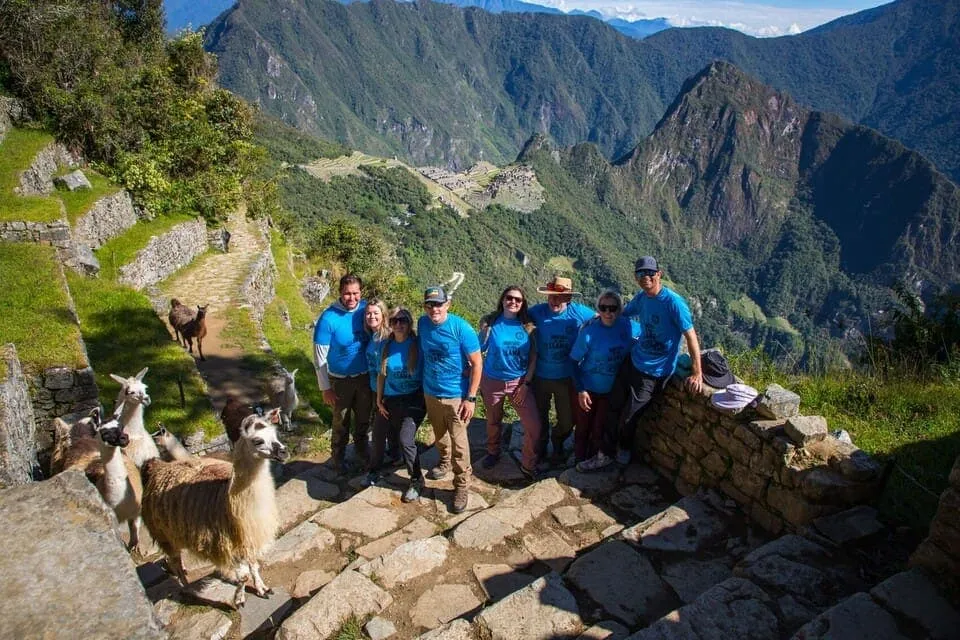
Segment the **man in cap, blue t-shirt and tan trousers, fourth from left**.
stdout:
<path fill-rule="evenodd" d="M 453 469 L 452 511 L 462 513 L 473 472 L 467 425 L 477 406 L 483 359 L 477 332 L 449 309 L 450 298 L 443 287 L 427 288 L 417 339 L 423 359 L 423 397 L 440 453 L 440 464 L 427 477 L 441 480 Z"/>

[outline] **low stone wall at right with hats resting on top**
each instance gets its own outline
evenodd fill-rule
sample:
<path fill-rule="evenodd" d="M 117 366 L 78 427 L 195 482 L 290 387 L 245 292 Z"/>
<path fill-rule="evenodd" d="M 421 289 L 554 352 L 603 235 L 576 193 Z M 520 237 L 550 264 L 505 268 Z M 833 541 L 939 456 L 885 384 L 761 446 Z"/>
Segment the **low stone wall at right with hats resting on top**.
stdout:
<path fill-rule="evenodd" d="M 709 388 L 692 394 L 673 378 L 641 419 L 641 448 L 681 493 L 716 487 L 773 534 L 874 498 L 882 466 L 771 387 L 758 409 L 732 416 Z"/>

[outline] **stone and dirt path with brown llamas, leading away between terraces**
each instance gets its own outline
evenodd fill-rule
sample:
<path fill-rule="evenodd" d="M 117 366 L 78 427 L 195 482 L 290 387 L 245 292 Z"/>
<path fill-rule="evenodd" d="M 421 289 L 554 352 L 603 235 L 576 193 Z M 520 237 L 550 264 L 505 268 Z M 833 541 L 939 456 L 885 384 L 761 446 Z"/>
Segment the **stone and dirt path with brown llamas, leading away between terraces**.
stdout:
<path fill-rule="evenodd" d="M 207 337 L 203 340 L 203 355 L 197 357 L 197 369 L 207 382 L 210 400 L 219 410 L 228 394 L 246 402 L 257 403 L 263 397 L 257 372 L 244 366 L 244 351 L 228 344 L 223 337 L 226 311 L 237 308 L 240 286 L 250 271 L 251 263 L 264 249 L 259 233 L 246 220 L 243 210 L 231 215 L 227 222 L 230 231 L 230 251 L 211 253 L 195 267 L 163 283 L 168 298 L 179 298 L 186 305 L 196 307 L 209 304 L 207 309 Z M 258 345 L 251 345 L 251 349 Z M 196 355 L 196 345 L 194 345 Z"/>

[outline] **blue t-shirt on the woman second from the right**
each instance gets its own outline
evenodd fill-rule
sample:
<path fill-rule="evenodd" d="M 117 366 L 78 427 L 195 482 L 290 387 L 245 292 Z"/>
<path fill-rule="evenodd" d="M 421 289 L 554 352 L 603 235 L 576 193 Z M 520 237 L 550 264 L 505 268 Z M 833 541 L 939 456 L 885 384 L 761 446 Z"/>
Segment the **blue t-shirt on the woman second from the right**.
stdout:
<path fill-rule="evenodd" d="M 573 380 L 577 391 L 610 393 L 617 371 L 639 335 L 640 325 L 624 316 L 610 327 L 599 318 L 583 325 L 570 351 L 570 359 L 576 363 Z"/>

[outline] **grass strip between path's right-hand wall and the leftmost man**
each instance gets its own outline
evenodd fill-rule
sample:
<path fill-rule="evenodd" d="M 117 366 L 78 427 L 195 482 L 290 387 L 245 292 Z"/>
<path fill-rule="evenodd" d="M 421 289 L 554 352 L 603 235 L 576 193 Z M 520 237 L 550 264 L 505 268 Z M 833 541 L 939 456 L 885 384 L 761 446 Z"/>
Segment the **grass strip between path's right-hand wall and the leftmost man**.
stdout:
<path fill-rule="evenodd" d="M 277 263 L 274 285 L 277 295 L 264 313 L 263 332 L 283 366 L 288 371 L 300 370 L 297 374 L 297 392 L 300 399 L 309 403 L 321 419 L 313 424 L 301 420 L 301 429 L 304 433 L 319 435 L 328 428 L 331 414 L 330 408 L 323 403 L 313 370 L 313 329 L 310 327 L 318 314 L 300 295 L 300 279 L 290 268 L 294 264 L 290 255 L 291 247 L 276 231 L 270 234 L 270 249 Z M 290 319 L 290 329 L 283 320 L 284 313 Z"/>

